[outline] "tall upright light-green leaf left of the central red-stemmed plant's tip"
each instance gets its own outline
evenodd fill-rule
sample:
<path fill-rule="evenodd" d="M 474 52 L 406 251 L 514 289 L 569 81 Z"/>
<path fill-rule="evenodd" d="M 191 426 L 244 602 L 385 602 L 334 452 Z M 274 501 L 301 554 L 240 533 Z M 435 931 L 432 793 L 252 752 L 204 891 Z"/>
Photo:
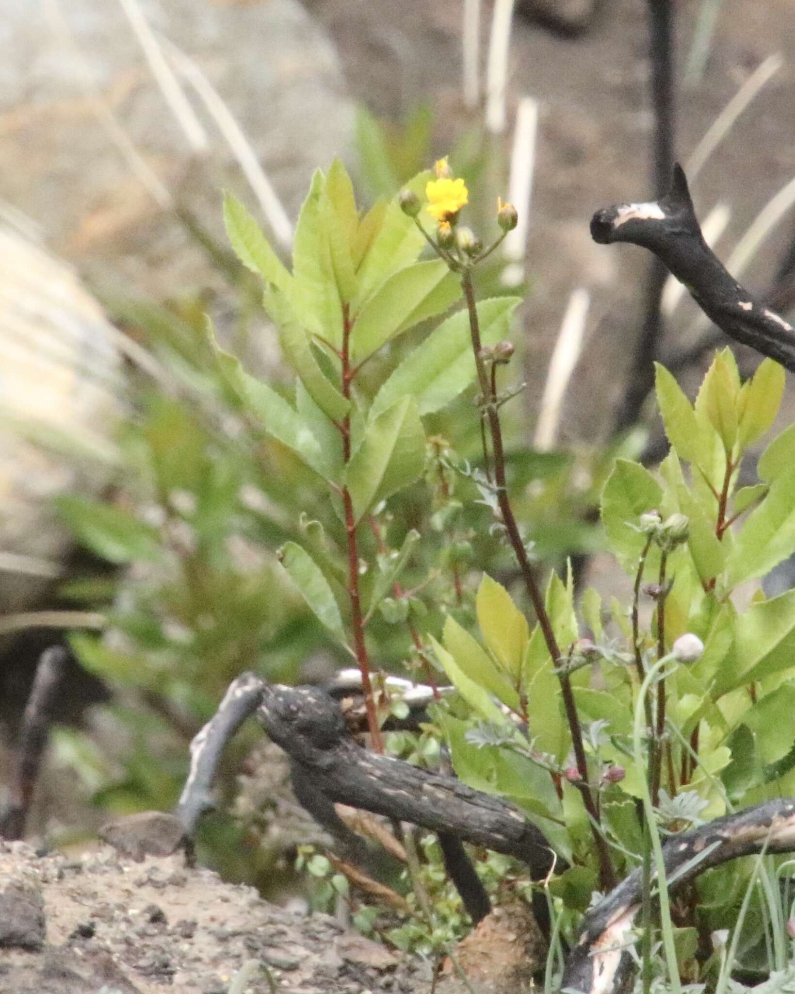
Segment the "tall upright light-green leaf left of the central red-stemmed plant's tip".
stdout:
<path fill-rule="evenodd" d="M 342 301 L 321 215 L 325 180 L 318 169 L 301 207 L 292 250 L 294 291 L 291 301 L 301 323 L 333 345 L 342 342 Z"/>

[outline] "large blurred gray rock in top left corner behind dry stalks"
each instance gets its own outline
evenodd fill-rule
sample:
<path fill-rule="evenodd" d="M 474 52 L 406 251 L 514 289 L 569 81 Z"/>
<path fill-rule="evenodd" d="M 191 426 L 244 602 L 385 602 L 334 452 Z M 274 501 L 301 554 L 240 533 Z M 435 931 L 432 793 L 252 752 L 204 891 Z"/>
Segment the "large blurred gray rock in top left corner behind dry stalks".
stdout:
<path fill-rule="evenodd" d="M 138 0 L 151 28 L 188 55 L 237 117 L 294 216 L 312 170 L 345 155 L 352 107 L 326 35 L 297 0 Z M 154 82 L 122 5 L 5 0 L 0 23 L 0 196 L 105 285 L 166 296 L 212 268 L 114 145 L 86 78 L 175 202 L 224 239 L 220 190 L 255 199 L 217 124 L 185 84 L 209 144 L 190 147 Z M 20 168 L 24 163 L 25 167 Z"/>

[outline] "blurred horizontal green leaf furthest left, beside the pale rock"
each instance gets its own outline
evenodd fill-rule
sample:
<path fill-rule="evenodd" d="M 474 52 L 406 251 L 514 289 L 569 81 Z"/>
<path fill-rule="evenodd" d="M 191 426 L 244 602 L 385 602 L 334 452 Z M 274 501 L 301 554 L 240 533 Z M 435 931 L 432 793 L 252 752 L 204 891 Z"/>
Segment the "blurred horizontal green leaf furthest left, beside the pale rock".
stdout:
<path fill-rule="evenodd" d="M 156 529 L 120 507 L 77 494 L 57 497 L 56 507 L 79 541 L 108 563 L 151 562 L 161 556 Z"/>

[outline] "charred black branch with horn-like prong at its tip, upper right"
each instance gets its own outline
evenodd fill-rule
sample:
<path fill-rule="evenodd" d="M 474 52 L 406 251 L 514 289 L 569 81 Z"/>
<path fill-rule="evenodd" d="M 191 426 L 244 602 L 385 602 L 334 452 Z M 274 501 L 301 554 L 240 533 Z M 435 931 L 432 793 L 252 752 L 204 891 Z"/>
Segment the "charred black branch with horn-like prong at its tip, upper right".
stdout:
<path fill-rule="evenodd" d="M 744 289 L 707 245 L 679 164 L 665 197 L 603 208 L 590 233 L 600 245 L 628 242 L 654 252 L 721 331 L 795 373 L 792 325 Z"/>

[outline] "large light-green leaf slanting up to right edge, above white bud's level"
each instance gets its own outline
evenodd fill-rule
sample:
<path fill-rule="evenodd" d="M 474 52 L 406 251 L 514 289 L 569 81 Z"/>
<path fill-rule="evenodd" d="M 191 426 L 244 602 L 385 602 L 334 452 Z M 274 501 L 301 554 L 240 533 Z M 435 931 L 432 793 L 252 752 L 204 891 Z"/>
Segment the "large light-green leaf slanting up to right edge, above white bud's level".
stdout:
<path fill-rule="evenodd" d="M 795 552 L 795 465 L 778 476 L 748 515 L 726 561 L 729 589 L 763 577 Z"/>

